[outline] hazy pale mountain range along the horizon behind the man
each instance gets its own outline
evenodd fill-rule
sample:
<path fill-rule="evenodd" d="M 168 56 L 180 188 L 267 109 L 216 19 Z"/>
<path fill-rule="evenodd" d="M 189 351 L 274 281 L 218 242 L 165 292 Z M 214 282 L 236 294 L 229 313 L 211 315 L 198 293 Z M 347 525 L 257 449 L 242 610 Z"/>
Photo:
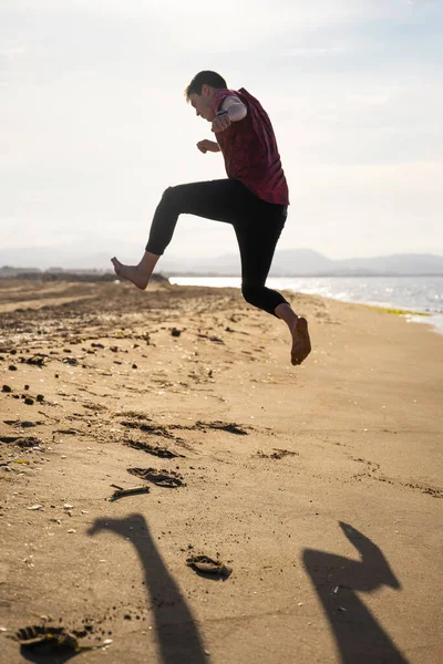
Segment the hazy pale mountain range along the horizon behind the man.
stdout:
<path fill-rule="evenodd" d="M 119 243 L 119 256 L 140 256 L 140 246 Z M 103 247 L 100 252 L 84 246 L 63 245 L 31 247 L 25 249 L 0 249 L 1 266 L 48 270 L 112 270 L 112 249 Z M 225 253 L 217 258 L 187 258 L 165 256 L 158 263 L 159 271 L 167 274 L 240 274 L 238 253 Z M 7 276 L 6 270 L 0 274 Z M 311 249 L 284 249 L 276 251 L 270 274 L 274 277 L 300 276 L 374 276 L 374 274 L 443 274 L 443 257 L 430 253 L 394 253 L 374 258 L 332 260 Z"/>

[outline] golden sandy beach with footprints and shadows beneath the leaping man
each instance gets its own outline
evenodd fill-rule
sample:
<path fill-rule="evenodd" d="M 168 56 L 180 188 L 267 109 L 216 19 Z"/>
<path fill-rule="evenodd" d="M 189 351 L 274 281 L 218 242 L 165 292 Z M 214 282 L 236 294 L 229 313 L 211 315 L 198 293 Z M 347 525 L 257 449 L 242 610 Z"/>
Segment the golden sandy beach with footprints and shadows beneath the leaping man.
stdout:
<path fill-rule="evenodd" d="M 286 294 L 0 282 L 2 664 L 443 661 L 443 335 Z"/>

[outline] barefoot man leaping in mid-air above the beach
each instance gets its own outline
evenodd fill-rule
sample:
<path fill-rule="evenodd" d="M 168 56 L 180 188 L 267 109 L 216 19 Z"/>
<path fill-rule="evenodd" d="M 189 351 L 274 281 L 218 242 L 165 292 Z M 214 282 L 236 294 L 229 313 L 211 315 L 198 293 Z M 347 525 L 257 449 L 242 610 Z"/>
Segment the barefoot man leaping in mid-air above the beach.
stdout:
<path fill-rule="evenodd" d="M 198 149 L 222 152 L 228 177 L 168 187 L 155 210 L 142 260 L 124 266 L 113 258 L 115 272 L 144 290 L 182 214 L 231 224 L 240 249 L 241 293 L 254 307 L 286 322 L 292 339 L 291 362 L 301 364 L 311 351 L 308 323 L 279 292 L 265 286 L 289 205 L 269 117 L 245 89 L 228 90 L 216 72 L 199 72 L 185 95 L 197 116 L 210 122 L 217 139 L 200 141 Z"/>

